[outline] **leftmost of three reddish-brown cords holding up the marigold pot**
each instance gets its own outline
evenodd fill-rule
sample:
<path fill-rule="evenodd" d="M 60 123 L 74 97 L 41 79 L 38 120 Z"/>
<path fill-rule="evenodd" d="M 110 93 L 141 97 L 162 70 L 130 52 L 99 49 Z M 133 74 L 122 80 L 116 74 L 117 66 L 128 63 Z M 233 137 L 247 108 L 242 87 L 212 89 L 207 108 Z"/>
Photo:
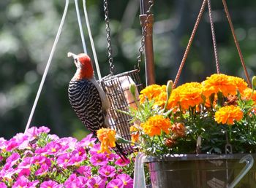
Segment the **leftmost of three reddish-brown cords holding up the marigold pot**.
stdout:
<path fill-rule="evenodd" d="M 180 65 L 179 68 L 178 68 L 178 73 L 176 74 L 176 78 L 175 78 L 175 80 L 174 80 L 174 82 L 173 82 L 173 88 L 176 87 L 177 82 L 178 82 L 178 79 L 179 79 L 179 77 L 181 77 L 181 70 L 182 70 L 182 68 L 183 68 L 183 66 L 184 66 L 185 61 L 187 60 L 187 55 L 188 55 L 188 53 L 189 53 L 191 44 L 192 44 L 193 39 L 194 39 L 194 37 L 195 37 L 195 32 L 197 31 L 197 28 L 198 28 L 198 25 L 199 25 L 199 23 L 200 23 L 201 17 L 202 17 L 202 15 L 203 15 L 203 11 L 204 11 L 204 9 L 205 9 L 205 7 L 206 7 L 206 1 L 207 1 L 207 0 L 203 0 L 202 7 L 201 7 L 200 12 L 199 12 L 199 14 L 198 14 L 198 16 L 197 16 L 197 20 L 196 20 L 196 22 L 195 22 L 195 26 L 194 26 L 194 28 L 193 28 L 192 34 L 191 34 L 191 36 L 190 36 L 190 38 L 189 38 L 189 42 L 188 42 L 188 44 L 187 44 L 187 48 L 186 48 L 186 50 L 185 50 L 185 52 L 184 52 L 184 56 L 183 56 L 183 58 L 182 58 L 182 60 L 181 60 L 181 65 Z"/>

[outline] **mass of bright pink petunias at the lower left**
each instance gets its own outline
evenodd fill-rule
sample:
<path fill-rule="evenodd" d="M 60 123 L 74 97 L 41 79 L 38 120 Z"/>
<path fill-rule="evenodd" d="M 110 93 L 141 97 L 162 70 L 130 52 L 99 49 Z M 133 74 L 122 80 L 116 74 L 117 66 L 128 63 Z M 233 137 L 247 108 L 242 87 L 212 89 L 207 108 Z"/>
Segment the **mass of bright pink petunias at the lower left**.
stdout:
<path fill-rule="evenodd" d="M 99 153 L 90 134 L 78 141 L 48 134 L 46 127 L 30 128 L 10 140 L 0 138 L 0 187 L 131 188 L 124 173 L 130 160 Z"/>

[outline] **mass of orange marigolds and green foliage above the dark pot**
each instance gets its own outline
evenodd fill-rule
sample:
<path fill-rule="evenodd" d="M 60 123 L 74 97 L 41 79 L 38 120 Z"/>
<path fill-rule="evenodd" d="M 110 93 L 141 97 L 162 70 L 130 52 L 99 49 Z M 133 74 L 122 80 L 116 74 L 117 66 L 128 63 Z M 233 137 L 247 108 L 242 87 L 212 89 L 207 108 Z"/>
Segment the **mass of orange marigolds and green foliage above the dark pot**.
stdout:
<path fill-rule="evenodd" d="M 134 123 L 132 141 L 141 152 L 153 156 L 256 152 L 255 85 L 251 89 L 239 77 L 212 74 L 201 83 L 172 87 L 171 81 L 146 87 L 138 108 L 128 112 Z M 232 151 L 226 150 L 227 144 Z"/>

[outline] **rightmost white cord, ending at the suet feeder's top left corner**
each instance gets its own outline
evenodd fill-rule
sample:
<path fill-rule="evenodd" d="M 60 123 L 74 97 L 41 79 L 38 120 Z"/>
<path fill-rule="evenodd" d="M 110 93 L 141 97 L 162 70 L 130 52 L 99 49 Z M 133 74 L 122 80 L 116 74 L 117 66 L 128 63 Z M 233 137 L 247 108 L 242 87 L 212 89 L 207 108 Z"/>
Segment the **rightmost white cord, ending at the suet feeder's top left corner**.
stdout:
<path fill-rule="evenodd" d="M 91 36 L 91 27 L 90 27 L 88 14 L 87 14 L 87 9 L 86 9 L 86 0 L 83 0 L 83 13 L 84 13 L 84 16 L 86 17 L 86 26 L 87 26 L 87 29 L 88 29 L 89 39 L 90 39 L 90 42 L 91 42 L 91 50 L 92 50 L 93 55 L 94 55 L 94 62 L 95 62 L 95 66 L 96 66 L 96 69 L 97 69 L 98 79 L 102 79 L 102 75 L 100 74 L 100 70 L 99 70 L 99 62 L 98 62 L 96 50 L 95 50 L 95 47 L 94 47 L 94 39 Z"/>

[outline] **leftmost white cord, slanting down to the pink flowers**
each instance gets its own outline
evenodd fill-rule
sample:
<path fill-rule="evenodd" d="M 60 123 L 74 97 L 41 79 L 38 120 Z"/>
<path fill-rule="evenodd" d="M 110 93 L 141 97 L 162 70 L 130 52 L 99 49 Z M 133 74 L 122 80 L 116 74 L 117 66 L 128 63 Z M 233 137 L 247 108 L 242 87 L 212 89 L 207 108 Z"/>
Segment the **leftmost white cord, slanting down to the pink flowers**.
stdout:
<path fill-rule="evenodd" d="M 45 78 L 46 78 L 46 75 L 48 74 L 48 69 L 50 67 L 50 63 L 51 63 L 51 60 L 53 59 L 53 53 L 55 52 L 56 50 L 56 44 L 58 43 L 59 41 L 59 36 L 61 35 L 61 30 L 62 30 L 62 27 L 64 25 L 64 20 L 65 20 L 65 17 L 67 15 L 67 8 L 69 7 L 69 0 L 66 0 L 66 4 L 65 4 L 65 8 L 64 8 L 64 12 L 63 12 L 63 15 L 62 15 L 62 18 L 61 18 L 61 23 L 59 25 L 59 30 L 57 32 L 57 35 L 56 35 L 56 39 L 53 43 L 53 47 L 52 47 L 52 50 L 50 51 L 50 56 L 49 56 L 49 59 L 48 59 L 48 62 L 46 64 L 46 67 L 45 67 L 45 71 L 44 71 L 44 74 L 42 75 L 42 80 L 40 82 L 40 85 L 39 85 L 39 89 L 37 91 L 37 96 L 34 100 L 34 105 L 31 109 L 31 112 L 30 112 L 30 115 L 29 115 L 29 120 L 26 124 L 26 129 L 24 131 L 24 133 L 26 133 L 26 131 L 29 129 L 29 125 L 31 123 L 31 120 L 32 120 L 32 117 L 34 115 L 34 110 L 36 109 L 36 106 L 37 106 L 37 101 L 39 99 L 39 95 L 41 94 L 41 91 L 42 91 L 42 86 L 44 85 L 45 83 Z"/>

